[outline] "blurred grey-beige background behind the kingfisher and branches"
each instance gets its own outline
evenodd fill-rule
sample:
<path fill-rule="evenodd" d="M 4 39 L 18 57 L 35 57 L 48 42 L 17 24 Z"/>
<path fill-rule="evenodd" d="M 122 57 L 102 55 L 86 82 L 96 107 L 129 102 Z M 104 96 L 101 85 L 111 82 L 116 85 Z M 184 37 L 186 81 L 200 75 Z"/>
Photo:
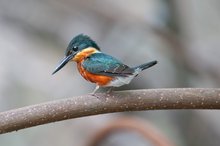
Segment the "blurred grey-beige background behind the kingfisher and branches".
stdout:
<path fill-rule="evenodd" d="M 117 90 L 220 85 L 218 0 L 0 0 L 0 32 L 0 111 L 90 93 L 95 85 L 74 63 L 51 75 L 79 33 L 130 66 L 159 61 Z M 85 146 L 121 117 L 146 121 L 177 146 L 220 143 L 219 111 L 168 110 L 37 126 L 0 135 L 0 145 Z M 119 134 L 106 145 L 153 145 L 137 137 Z"/>

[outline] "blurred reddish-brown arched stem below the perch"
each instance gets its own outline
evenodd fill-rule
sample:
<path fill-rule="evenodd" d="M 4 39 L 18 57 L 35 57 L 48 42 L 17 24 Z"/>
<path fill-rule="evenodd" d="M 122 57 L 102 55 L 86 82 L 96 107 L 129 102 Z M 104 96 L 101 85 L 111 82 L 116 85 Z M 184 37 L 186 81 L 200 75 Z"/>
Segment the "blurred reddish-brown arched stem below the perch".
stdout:
<path fill-rule="evenodd" d="M 106 139 L 111 138 L 113 134 L 119 131 L 136 132 L 154 146 L 175 146 L 164 134 L 153 127 L 151 123 L 148 123 L 146 120 L 131 117 L 122 117 L 106 124 L 105 127 L 93 134 L 93 138 L 87 146 L 103 145 Z"/>

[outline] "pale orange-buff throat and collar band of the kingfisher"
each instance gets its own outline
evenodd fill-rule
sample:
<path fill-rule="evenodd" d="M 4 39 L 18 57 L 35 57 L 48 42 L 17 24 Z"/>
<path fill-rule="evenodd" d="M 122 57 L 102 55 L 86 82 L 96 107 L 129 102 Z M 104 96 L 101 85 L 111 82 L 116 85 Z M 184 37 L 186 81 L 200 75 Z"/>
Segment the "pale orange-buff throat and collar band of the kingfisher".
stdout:
<path fill-rule="evenodd" d="M 96 48 L 89 47 L 86 49 L 83 49 L 79 53 L 76 54 L 76 56 L 73 58 L 73 61 L 76 61 L 77 63 L 83 61 L 85 58 L 90 56 L 91 54 L 98 53 L 99 51 Z"/>

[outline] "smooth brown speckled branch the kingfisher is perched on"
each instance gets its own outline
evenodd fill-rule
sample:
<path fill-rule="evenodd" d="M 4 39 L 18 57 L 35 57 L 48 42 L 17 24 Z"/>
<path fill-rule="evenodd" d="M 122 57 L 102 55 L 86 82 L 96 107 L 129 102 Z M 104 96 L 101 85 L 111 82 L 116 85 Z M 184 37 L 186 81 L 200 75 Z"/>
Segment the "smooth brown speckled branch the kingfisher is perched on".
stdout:
<path fill-rule="evenodd" d="M 85 95 L 0 113 L 0 133 L 89 115 L 156 109 L 220 109 L 220 89 L 150 89 Z"/>

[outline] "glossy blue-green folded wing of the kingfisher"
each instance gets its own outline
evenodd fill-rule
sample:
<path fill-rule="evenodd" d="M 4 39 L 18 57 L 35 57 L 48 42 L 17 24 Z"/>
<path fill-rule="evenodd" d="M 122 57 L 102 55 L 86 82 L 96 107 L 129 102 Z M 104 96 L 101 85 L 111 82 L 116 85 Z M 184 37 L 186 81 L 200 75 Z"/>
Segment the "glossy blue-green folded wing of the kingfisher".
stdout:
<path fill-rule="evenodd" d="M 88 72 L 107 76 L 128 76 L 134 73 L 134 69 L 104 53 L 90 55 L 82 63 L 82 66 Z"/>

